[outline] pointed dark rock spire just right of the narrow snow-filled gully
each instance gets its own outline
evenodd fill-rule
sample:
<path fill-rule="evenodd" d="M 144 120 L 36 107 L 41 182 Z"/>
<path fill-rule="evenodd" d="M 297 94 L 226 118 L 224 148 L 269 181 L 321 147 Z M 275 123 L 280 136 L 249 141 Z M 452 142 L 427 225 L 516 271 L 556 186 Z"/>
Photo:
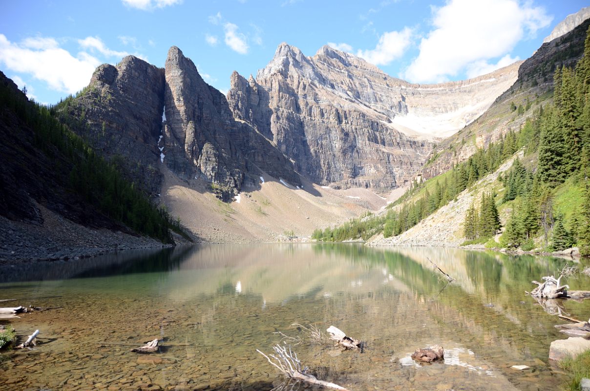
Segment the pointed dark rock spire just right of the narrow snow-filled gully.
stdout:
<path fill-rule="evenodd" d="M 222 198 L 261 170 L 300 185 L 291 162 L 248 123 L 234 120 L 221 92 L 204 82 L 195 64 L 172 47 L 165 66 L 163 161 L 182 178 L 202 177 Z"/>

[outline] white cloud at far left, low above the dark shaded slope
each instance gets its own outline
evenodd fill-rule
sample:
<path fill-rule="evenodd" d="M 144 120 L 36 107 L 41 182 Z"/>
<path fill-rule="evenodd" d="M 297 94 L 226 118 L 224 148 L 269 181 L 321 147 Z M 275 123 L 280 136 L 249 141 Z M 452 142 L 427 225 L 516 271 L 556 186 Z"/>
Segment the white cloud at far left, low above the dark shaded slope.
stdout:
<path fill-rule="evenodd" d="M 33 38 L 16 44 L 0 34 L 0 63 L 8 70 L 31 74 L 55 90 L 75 93 L 90 82 L 101 61 L 85 52 L 74 57 L 55 42 L 52 38 Z"/>

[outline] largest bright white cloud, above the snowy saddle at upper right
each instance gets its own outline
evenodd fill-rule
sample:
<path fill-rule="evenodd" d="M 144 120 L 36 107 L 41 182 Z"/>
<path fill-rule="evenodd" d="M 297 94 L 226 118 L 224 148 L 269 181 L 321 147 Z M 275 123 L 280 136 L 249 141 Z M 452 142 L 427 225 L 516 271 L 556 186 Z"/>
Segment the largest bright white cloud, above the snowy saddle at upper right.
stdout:
<path fill-rule="evenodd" d="M 505 57 L 525 34 L 534 36 L 552 20 L 544 8 L 518 0 L 448 0 L 433 11 L 434 30 L 402 75 L 411 82 L 444 82 L 463 70 L 491 69 L 487 61 Z"/>

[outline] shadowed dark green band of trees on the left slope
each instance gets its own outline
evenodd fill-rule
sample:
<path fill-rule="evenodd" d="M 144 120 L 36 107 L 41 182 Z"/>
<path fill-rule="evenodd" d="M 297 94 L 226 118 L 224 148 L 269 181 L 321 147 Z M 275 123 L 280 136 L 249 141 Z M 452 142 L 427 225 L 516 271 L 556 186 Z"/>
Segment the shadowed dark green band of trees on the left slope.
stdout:
<path fill-rule="evenodd" d="M 29 102 L 2 84 L 0 106 L 12 110 L 32 129 L 35 147 L 51 162 L 69 168 L 65 185 L 107 217 L 164 243 L 173 243 L 169 229 L 186 235 L 178 219 L 153 206 L 135 184 L 120 174 L 116 161 L 105 161 L 80 136 L 55 119 L 53 108 Z"/>

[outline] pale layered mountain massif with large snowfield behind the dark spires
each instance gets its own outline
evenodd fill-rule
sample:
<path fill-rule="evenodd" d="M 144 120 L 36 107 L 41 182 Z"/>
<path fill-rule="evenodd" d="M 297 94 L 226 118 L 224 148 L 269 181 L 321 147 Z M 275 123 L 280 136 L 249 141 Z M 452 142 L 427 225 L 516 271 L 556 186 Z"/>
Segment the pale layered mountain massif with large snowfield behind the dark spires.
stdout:
<path fill-rule="evenodd" d="M 313 181 L 389 190 L 411 180 L 435 141 L 481 115 L 518 65 L 424 86 L 328 46 L 306 57 L 283 43 L 256 80 L 232 75 L 228 101 Z"/>

